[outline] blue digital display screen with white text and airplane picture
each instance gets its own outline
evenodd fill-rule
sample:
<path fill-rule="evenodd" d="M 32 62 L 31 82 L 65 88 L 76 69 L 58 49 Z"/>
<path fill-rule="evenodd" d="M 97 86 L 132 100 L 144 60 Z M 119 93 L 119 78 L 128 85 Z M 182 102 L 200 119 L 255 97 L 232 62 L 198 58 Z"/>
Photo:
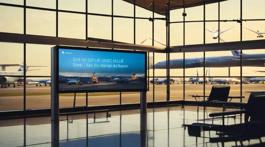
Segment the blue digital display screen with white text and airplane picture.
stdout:
<path fill-rule="evenodd" d="M 88 49 L 58 49 L 59 92 L 146 91 L 146 52 Z"/>

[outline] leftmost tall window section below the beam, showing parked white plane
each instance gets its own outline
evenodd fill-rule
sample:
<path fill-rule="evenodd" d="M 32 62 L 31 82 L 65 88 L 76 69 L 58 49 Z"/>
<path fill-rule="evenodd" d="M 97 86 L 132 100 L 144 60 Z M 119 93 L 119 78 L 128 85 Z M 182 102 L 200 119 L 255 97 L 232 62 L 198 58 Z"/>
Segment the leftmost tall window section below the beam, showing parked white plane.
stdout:
<path fill-rule="evenodd" d="M 0 111 L 23 109 L 24 89 L 24 46 L 23 44 L 0 42 Z M 20 58 L 14 58 L 14 53 L 20 55 Z M 11 77 L 20 76 L 20 77 Z"/>

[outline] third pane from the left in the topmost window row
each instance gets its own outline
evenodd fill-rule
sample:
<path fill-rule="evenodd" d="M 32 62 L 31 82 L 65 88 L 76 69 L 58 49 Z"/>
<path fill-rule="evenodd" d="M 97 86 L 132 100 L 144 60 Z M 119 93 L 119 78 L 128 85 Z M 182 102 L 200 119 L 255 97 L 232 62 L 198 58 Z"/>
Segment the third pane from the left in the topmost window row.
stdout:
<path fill-rule="evenodd" d="M 86 0 L 58 0 L 58 9 L 86 12 Z"/>

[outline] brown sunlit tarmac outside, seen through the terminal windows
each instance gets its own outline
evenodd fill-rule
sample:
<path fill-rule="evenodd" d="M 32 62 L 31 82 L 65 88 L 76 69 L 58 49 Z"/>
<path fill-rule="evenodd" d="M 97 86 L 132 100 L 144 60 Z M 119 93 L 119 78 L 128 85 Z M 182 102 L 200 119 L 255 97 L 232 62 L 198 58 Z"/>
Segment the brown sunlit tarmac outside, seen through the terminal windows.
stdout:
<path fill-rule="evenodd" d="M 219 84 L 213 84 L 219 85 Z M 205 95 L 208 96 L 211 92 L 211 84 L 205 84 Z M 67 85 L 68 86 L 68 85 Z M 153 84 L 149 85 L 147 92 L 147 101 L 153 101 Z M 229 96 L 240 96 L 240 84 L 230 84 L 231 86 Z M 51 87 L 50 86 L 36 86 L 26 85 L 26 109 L 34 108 L 50 108 L 51 106 Z M 265 85 L 262 83 L 243 84 L 242 102 L 247 102 L 250 95 L 246 91 L 265 91 Z M 37 94 L 36 94 L 37 93 Z M 111 93 L 110 93 L 111 94 Z M 120 103 L 119 93 L 112 93 L 114 95 L 88 95 L 88 106 L 95 105 L 111 105 Z M 155 85 L 154 101 L 166 101 L 166 85 Z M 203 84 L 189 84 L 185 83 L 185 100 L 195 101 L 195 98 L 189 95 L 203 95 Z M 6 96 L 8 95 L 8 96 Z M 19 95 L 19 96 L 16 96 Z M 170 100 L 183 100 L 183 84 L 170 85 Z M 202 100 L 202 99 L 201 99 Z M 60 107 L 72 107 L 74 96 L 60 96 Z M 240 102 L 240 99 L 233 99 L 232 102 Z M 0 111 L 4 110 L 18 110 L 23 109 L 23 86 L 8 87 L 0 89 Z M 122 93 L 121 103 L 140 103 L 140 93 Z M 77 96 L 75 106 L 85 106 L 85 96 Z"/>

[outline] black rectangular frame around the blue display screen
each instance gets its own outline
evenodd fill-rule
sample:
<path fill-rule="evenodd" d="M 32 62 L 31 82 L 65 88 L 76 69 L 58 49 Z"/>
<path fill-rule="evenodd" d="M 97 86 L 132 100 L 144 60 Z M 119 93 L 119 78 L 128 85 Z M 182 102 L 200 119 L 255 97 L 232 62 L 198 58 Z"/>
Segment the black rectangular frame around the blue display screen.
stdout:
<path fill-rule="evenodd" d="M 59 46 L 59 45 L 54 46 L 54 48 L 56 50 L 56 93 L 147 92 L 147 51 L 131 51 L 131 50 L 118 50 L 118 49 L 99 49 L 99 48 Z M 145 78 L 144 78 L 145 88 L 141 88 L 141 89 L 64 90 L 64 91 L 59 91 L 59 49 L 145 54 Z"/>

